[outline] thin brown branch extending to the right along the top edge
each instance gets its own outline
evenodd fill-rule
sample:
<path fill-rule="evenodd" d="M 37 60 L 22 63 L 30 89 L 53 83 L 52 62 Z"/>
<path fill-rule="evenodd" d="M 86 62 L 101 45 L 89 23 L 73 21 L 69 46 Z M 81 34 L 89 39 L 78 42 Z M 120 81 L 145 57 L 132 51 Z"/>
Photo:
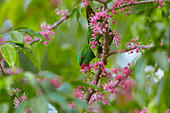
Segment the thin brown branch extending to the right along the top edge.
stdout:
<path fill-rule="evenodd" d="M 162 2 L 170 2 L 170 0 L 161 0 L 161 1 Z M 156 1 L 155 0 L 148 0 L 148 1 L 136 1 L 136 2 L 133 2 L 131 4 L 127 3 L 127 4 L 117 6 L 117 8 L 109 9 L 109 12 L 112 11 L 112 10 L 117 10 L 117 9 L 127 7 L 127 6 L 131 6 L 131 5 L 138 5 L 138 4 L 144 4 L 144 3 L 153 3 L 153 2 L 156 2 Z"/>

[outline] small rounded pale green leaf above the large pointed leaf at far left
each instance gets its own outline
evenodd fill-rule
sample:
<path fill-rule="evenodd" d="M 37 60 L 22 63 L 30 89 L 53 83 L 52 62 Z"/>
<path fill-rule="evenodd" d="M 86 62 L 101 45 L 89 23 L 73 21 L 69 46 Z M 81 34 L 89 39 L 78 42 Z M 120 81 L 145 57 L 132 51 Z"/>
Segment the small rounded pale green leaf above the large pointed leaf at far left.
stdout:
<path fill-rule="evenodd" d="M 18 41 L 18 42 L 23 42 L 24 39 L 23 35 L 18 31 L 12 31 L 11 38 L 13 41 Z"/>

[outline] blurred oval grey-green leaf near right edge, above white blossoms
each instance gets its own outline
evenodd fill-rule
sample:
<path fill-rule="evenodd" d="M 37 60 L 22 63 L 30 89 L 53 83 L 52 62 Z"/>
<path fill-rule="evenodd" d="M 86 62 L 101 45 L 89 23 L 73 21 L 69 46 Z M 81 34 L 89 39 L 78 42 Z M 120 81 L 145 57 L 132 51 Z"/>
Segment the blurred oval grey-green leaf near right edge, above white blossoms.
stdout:
<path fill-rule="evenodd" d="M 153 58 L 155 62 L 158 63 L 161 69 L 163 69 L 164 71 L 168 69 L 168 57 L 163 51 L 156 51 L 153 54 Z"/>

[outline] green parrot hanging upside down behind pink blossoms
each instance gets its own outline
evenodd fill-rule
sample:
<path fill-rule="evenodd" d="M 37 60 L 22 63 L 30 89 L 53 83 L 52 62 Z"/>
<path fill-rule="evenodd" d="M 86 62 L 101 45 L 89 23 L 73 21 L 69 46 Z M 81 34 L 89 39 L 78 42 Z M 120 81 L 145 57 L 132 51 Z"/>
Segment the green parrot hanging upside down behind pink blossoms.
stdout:
<path fill-rule="evenodd" d="M 86 16 L 88 20 L 88 24 L 90 24 L 89 17 L 95 15 L 95 12 L 90 6 L 87 6 L 86 8 Z M 101 22 L 103 21 L 102 19 L 100 20 Z M 109 32 L 112 32 L 111 29 L 109 28 Z M 80 51 L 79 56 L 78 56 L 78 63 L 81 66 L 82 69 L 84 69 L 86 66 L 89 67 L 89 62 L 95 58 L 95 57 L 100 57 L 100 54 L 102 53 L 102 46 L 100 40 L 103 37 L 102 35 L 98 35 L 96 41 L 98 41 L 98 46 L 96 46 L 95 49 L 91 49 L 90 47 L 90 41 L 92 37 L 92 29 L 88 27 L 88 34 L 87 34 L 87 42 L 86 44 Z M 111 35 L 109 40 L 109 45 L 111 45 L 113 41 L 113 35 Z"/>

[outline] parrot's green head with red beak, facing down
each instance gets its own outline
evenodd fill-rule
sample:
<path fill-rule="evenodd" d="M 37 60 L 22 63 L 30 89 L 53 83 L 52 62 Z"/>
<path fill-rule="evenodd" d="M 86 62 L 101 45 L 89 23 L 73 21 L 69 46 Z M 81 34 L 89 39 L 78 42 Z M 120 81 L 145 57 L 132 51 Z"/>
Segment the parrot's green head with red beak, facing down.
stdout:
<path fill-rule="evenodd" d="M 82 69 L 84 69 L 86 66 L 89 67 L 89 62 L 95 58 L 95 55 L 90 48 L 90 45 L 86 44 L 80 51 L 78 56 L 78 63 L 81 66 Z"/>

